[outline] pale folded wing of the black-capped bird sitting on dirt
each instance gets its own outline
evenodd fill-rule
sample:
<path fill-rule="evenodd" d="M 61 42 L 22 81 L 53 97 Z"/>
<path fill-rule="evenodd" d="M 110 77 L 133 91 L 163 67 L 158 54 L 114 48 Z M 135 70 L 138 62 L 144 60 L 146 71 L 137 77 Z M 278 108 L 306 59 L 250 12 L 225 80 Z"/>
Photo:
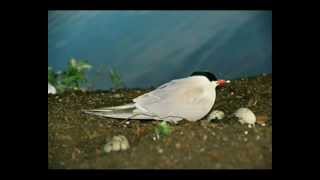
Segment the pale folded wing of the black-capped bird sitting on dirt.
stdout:
<path fill-rule="evenodd" d="M 196 79 L 179 79 L 137 97 L 134 102 L 160 118 L 177 116 L 193 121 L 201 118 L 201 112 L 210 106 L 203 90 Z"/>

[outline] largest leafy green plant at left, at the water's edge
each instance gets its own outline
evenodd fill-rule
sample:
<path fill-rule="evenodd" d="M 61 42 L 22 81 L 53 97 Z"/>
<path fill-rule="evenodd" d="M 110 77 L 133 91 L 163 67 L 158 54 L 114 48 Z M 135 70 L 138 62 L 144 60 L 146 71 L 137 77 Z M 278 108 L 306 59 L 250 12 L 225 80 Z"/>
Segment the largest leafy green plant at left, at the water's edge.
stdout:
<path fill-rule="evenodd" d="M 56 87 L 58 92 L 65 90 L 79 90 L 87 82 L 86 72 L 91 65 L 72 58 L 64 72 L 54 72 L 48 67 L 48 82 Z"/>

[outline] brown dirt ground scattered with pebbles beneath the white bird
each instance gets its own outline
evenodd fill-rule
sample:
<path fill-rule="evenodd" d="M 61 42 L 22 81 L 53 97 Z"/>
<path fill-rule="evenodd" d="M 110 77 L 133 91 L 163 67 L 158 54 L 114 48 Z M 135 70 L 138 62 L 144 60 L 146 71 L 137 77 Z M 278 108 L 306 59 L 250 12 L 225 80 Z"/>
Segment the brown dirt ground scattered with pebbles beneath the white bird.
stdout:
<path fill-rule="evenodd" d="M 66 92 L 48 95 L 49 169 L 272 169 L 272 75 L 234 80 L 217 89 L 213 109 L 222 120 L 182 121 L 167 137 L 154 140 L 159 121 L 126 121 L 84 114 L 81 110 L 116 106 L 151 89 Z M 254 128 L 232 116 L 248 107 Z M 126 151 L 103 151 L 113 136 L 127 137 Z"/>

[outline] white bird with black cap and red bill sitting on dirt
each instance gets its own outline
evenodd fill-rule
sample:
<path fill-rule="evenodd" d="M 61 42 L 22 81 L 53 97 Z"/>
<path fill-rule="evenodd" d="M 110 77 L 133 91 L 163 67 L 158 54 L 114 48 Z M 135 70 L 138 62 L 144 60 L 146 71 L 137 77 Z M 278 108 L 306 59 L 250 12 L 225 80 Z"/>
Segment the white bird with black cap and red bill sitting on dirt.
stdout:
<path fill-rule="evenodd" d="M 172 80 L 138 96 L 133 103 L 85 111 L 85 113 L 120 119 L 154 119 L 177 123 L 197 121 L 212 109 L 216 87 L 230 81 L 217 80 L 209 72 L 194 72 L 190 77 Z"/>

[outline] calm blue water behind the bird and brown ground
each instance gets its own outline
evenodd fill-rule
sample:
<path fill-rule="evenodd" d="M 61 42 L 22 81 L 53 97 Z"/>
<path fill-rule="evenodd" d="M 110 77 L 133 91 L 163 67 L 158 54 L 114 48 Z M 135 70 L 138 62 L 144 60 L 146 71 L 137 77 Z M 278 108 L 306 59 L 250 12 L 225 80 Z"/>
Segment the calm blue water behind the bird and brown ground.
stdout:
<path fill-rule="evenodd" d="M 158 86 L 193 71 L 218 78 L 272 73 L 271 11 L 48 11 L 48 65 L 93 65 L 97 89 L 112 67 L 127 87 Z"/>

